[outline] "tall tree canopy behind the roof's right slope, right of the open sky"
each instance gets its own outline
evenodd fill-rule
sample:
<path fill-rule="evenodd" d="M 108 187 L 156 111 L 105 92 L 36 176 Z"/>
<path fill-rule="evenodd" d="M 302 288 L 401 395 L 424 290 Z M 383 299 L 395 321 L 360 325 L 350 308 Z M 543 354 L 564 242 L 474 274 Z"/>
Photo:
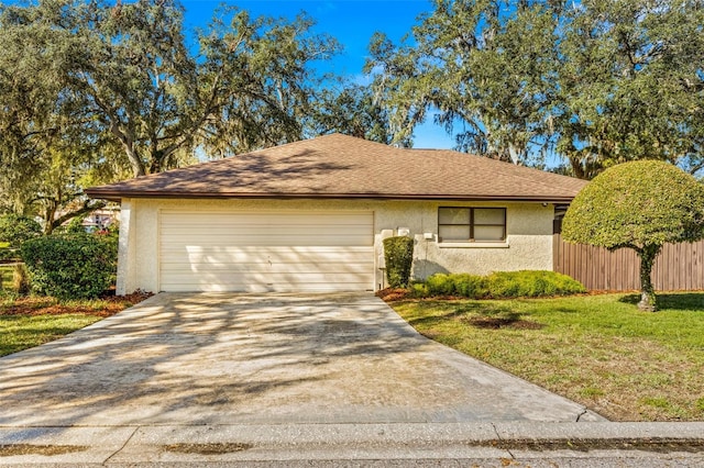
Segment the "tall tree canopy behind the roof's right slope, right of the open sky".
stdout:
<path fill-rule="evenodd" d="M 402 45 L 376 34 L 366 69 L 396 140 L 435 112 L 459 149 L 527 161 L 549 143 L 557 23 L 548 2 L 436 0 Z"/>

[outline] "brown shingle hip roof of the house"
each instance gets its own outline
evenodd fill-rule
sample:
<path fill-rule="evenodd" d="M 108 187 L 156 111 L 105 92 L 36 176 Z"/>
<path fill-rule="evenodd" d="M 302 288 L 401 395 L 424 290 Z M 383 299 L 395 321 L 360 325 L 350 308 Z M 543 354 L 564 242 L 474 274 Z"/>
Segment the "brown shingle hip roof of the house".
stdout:
<path fill-rule="evenodd" d="M 586 182 L 485 157 L 332 134 L 94 187 L 94 198 L 570 201 Z"/>

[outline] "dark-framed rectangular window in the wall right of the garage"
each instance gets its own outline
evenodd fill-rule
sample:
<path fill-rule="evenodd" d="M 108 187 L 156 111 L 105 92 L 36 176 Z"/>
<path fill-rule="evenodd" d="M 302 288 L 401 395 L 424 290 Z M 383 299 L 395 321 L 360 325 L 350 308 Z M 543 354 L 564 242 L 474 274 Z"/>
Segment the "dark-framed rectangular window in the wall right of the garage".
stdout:
<path fill-rule="evenodd" d="M 506 209 L 440 207 L 438 237 L 440 242 L 503 242 Z"/>

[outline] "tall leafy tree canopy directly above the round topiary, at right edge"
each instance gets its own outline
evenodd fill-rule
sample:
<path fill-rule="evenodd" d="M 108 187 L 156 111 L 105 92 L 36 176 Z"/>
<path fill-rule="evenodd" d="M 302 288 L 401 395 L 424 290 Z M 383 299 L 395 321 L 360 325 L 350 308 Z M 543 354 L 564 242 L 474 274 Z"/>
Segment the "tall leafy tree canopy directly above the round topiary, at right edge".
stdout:
<path fill-rule="evenodd" d="M 574 174 L 656 158 L 704 165 L 704 3 L 585 0 L 559 43 L 558 151 Z"/>

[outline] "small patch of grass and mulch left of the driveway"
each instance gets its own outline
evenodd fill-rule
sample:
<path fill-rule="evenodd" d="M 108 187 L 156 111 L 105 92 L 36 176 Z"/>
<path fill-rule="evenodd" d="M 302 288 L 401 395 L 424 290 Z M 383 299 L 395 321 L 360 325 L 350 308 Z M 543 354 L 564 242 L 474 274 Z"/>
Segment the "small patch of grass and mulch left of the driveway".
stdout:
<path fill-rule="evenodd" d="M 54 298 L 0 296 L 0 356 L 61 338 L 148 296 L 107 296 L 100 300 L 64 302 Z"/>

